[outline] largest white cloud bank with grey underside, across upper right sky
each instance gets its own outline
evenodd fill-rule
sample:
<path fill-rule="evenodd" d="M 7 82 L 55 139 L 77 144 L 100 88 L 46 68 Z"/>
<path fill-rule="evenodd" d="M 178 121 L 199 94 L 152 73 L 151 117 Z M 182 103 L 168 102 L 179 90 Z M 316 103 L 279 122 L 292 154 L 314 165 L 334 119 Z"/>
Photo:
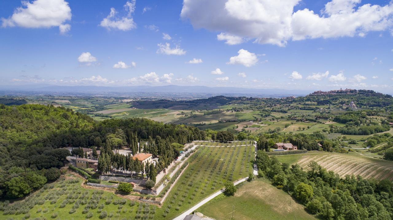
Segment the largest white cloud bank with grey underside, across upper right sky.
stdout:
<path fill-rule="evenodd" d="M 391 29 L 393 4 L 361 4 L 360 0 L 330 0 L 316 13 L 301 0 L 184 0 L 181 18 L 195 29 L 222 32 L 255 43 L 285 46 L 290 40 L 365 36 Z M 319 11 L 321 11 L 319 13 Z M 218 38 L 218 37 L 217 37 Z M 220 40 L 220 39 L 219 39 Z M 230 44 L 231 41 L 227 40 Z"/>

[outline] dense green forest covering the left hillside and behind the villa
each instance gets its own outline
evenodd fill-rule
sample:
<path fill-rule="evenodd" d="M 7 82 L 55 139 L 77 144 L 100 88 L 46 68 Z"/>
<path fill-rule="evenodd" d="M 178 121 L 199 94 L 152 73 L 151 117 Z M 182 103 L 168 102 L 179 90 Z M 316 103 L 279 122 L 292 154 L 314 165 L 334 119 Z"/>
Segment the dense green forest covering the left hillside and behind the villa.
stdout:
<path fill-rule="evenodd" d="M 129 146 L 136 151 L 136 140 L 154 137 L 162 141 L 151 148 L 165 155 L 165 166 L 176 156 L 172 143 L 205 138 L 195 127 L 141 118 L 95 122 L 85 114 L 52 105 L 0 105 L 0 115 L 0 197 L 7 198 L 23 197 L 60 176 L 58 168 L 70 155 L 67 146 L 112 150 Z"/>

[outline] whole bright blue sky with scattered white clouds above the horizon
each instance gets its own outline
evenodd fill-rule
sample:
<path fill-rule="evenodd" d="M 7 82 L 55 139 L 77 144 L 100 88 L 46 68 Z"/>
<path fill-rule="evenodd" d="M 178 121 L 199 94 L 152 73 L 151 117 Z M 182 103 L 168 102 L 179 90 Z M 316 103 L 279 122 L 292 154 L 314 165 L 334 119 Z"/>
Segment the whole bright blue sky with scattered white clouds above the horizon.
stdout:
<path fill-rule="evenodd" d="M 0 85 L 392 91 L 393 4 L 386 0 L 0 6 Z"/>

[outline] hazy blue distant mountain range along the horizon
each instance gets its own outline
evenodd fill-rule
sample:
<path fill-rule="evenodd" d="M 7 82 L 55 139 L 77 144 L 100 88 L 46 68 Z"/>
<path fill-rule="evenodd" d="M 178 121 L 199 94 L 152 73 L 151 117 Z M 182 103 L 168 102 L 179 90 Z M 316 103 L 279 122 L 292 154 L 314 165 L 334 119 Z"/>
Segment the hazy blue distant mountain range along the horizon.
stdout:
<path fill-rule="evenodd" d="M 0 90 L 19 92 L 64 92 L 64 93 L 214 93 L 214 94 L 281 94 L 281 95 L 307 95 L 312 90 L 287 90 L 278 88 L 238 88 L 238 87 L 206 87 L 206 86 L 54 86 L 54 85 L 23 85 L 23 86 L 0 86 Z"/>

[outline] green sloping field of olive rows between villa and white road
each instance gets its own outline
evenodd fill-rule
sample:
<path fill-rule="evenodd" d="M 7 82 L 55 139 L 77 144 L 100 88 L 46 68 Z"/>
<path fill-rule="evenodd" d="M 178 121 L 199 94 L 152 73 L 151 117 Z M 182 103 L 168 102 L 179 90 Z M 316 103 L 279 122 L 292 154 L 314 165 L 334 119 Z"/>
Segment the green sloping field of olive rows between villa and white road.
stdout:
<path fill-rule="evenodd" d="M 189 166 L 169 192 L 162 209 L 157 210 L 160 219 L 173 219 L 222 189 L 226 181 L 247 177 L 252 171 L 253 152 L 254 146 L 200 146 L 188 159 Z"/>

